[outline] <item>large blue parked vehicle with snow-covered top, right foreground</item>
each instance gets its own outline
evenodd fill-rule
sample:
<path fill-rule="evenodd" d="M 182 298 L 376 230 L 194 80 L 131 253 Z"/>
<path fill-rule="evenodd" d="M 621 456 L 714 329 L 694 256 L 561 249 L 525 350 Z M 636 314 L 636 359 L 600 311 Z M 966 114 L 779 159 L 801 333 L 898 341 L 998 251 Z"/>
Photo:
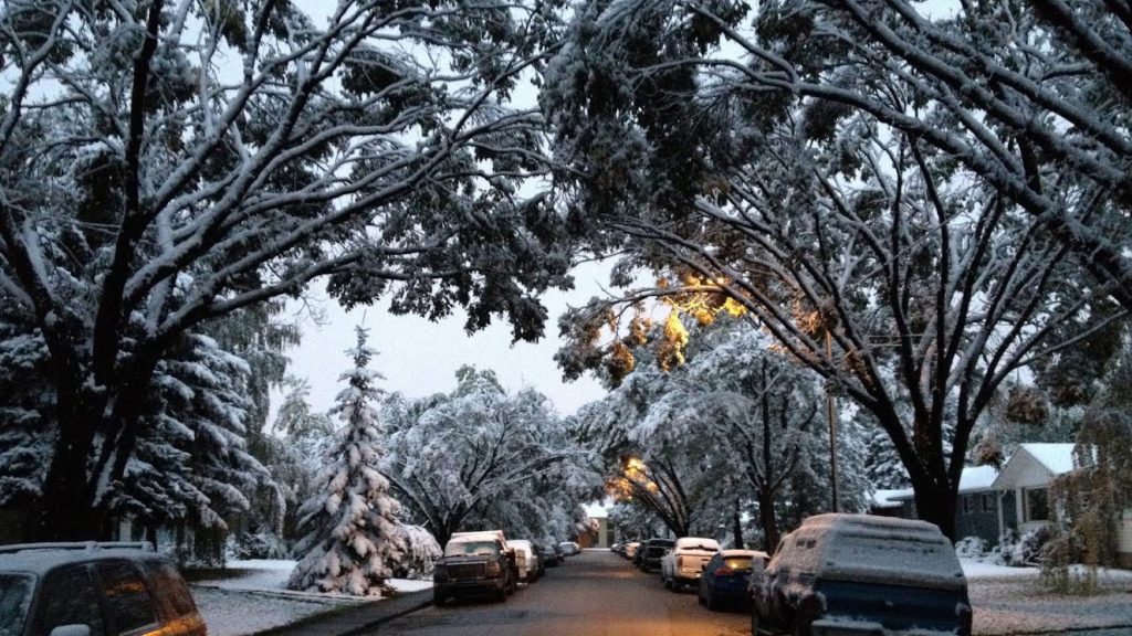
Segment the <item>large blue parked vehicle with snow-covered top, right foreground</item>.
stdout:
<path fill-rule="evenodd" d="M 809 517 L 752 569 L 751 627 L 814 636 L 895 631 L 970 636 L 967 579 L 933 524 L 872 515 Z"/>

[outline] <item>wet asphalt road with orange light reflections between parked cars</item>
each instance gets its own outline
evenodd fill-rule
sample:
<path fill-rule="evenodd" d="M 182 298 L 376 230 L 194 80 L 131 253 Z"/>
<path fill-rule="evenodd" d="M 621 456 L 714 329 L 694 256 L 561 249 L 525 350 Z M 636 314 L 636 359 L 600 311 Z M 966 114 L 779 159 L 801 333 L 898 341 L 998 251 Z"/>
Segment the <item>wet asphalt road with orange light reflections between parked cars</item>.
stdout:
<path fill-rule="evenodd" d="M 506 602 L 449 601 L 385 624 L 395 636 L 740 636 L 746 613 L 711 612 L 607 551 L 585 551 Z M 367 636 L 368 636 L 367 635 Z"/>

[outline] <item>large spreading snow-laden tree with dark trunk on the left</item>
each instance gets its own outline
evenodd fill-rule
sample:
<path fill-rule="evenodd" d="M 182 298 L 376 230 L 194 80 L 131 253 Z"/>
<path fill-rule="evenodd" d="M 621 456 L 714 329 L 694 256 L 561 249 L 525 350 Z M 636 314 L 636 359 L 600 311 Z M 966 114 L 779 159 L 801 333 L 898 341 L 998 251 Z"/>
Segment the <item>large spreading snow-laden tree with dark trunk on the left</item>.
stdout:
<path fill-rule="evenodd" d="M 0 11 L 0 294 L 42 342 L 43 539 L 102 532 L 186 334 L 329 276 L 470 329 L 542 333 L 561 221 L 517 194 L 542 118 L 507 100 L 549 5 L 14 0 Z M 482 34 L 488 34 L 484 37 Z M 46 406 L 45 406 L 46 409 Z M 33 489 L 33 491 L 36 489 Z"/>

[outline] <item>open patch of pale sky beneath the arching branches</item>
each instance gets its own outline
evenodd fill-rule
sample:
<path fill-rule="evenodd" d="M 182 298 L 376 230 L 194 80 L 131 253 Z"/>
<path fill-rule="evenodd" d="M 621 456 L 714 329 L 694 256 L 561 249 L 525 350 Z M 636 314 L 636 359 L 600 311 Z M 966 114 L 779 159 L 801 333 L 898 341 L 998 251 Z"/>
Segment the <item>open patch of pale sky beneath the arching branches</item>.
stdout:
<path fill-rule="evenodd" d="M 549 397 L 559 414 L 569 415 L 578 406 L 604 395 L 594 379 L 561 380 L 554 361 L 560 346 L 558 316 L 567 304 L 580 307 L 593 295 L 601 295 L 608 269 L 598 264 L 583 265 L 574 273 L 575 290 L 548 293 L 543 303 L 550 312 L 546 337 L 539 343 L 511 344 L 509 325 L 494 323 L 474 335 L 464 333 L 460 313 L 438 323 L 415 316 L 393 316 L 386 303 L 345 312 L 326 294 L 319 307 L 326 324 L 312 324 L 305 317 L 302 344 L 292 349 L 290 372 L 310 381 L 311 406 L 326 411 L 344 387 L 338 379 L 352 361 L 345 351 L 354 346 L 354 327 L 369 329 L 369 344 L 378 351 L 371 368 L 385 376 L 378 386 L 389 392 L 422 397 L 455 388 L 455 372 L 463 364 L 492 369 L 508 392 L 533 387 Z"/>

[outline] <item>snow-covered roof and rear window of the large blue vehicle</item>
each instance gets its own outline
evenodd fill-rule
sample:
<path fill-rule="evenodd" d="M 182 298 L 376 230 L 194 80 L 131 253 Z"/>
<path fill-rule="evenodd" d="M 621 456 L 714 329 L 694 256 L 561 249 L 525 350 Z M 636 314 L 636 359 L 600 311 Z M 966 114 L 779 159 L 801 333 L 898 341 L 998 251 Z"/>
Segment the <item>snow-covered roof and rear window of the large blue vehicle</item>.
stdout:
<path fill-rule="evenodd" d="M 951 542 L 938 527 L 921 521 L 816 515 L 783 538 L 774 558 L 821 578 L 941 590 L 967 587 Z"/>

